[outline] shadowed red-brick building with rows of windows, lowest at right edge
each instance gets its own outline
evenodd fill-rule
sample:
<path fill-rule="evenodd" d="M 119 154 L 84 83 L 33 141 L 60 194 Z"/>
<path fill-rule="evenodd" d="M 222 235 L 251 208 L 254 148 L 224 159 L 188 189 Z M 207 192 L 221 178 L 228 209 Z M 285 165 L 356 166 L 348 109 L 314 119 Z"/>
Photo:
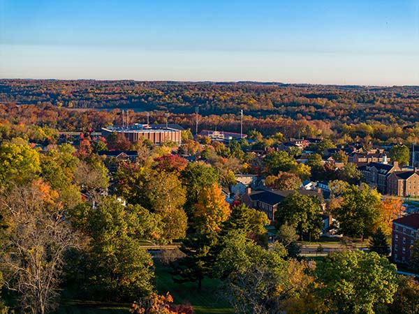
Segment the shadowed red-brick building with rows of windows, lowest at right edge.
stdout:
<path fill-rule="evenodd" d="M 419 239 L 419 213 L 404 216 L 392 221 L 392 260 L 409 262 L 412 246 Z"/>

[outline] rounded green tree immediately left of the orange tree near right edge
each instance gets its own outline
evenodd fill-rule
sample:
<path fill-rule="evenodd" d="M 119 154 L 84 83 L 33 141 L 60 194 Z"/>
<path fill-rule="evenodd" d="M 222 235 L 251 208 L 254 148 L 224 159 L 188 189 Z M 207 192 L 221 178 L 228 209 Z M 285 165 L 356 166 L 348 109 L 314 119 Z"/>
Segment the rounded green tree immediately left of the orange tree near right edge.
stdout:
<path fill-rule="evenodd" d="M 346 185 L 333 209 L 339 228 L 349 237 L 369 236 L 378 225 L 381 212 L 381 195 L 367 184 L 360 187 Z"/>

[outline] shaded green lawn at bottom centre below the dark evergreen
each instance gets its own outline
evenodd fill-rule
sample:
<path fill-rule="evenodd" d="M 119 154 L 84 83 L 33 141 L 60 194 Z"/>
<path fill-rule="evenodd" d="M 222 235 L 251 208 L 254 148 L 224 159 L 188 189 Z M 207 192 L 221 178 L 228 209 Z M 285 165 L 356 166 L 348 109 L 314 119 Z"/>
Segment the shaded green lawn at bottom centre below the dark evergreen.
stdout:
<path fill-rule="evenodd" d="M 157 290 L 160 294 L 170 292 L 175 304 L 190 303 L 196 314 L 234 313 L 228 303 L 218 295 L 220 281 L 207 278 L 203 280 L 202 290 L 196 283 L 173 283 L 168 267 L 156 262 Z"/>

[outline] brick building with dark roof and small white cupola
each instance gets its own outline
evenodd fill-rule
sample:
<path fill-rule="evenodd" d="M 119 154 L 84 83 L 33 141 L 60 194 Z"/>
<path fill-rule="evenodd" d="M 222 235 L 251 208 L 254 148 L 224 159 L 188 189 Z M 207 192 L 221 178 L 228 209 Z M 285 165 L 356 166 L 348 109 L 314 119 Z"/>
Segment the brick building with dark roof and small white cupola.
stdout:
<path fill-rule="evenodd" d="M 388 176 L 392 172 L 402 170 L 397 161 L 390 165 L 386 156 L 382 163 L 369 163 L 358 167 L 358 169 L 363 174 L 363 181 L 371 187 L 376 187 L 378 192 L 383 194 L 387 193 Z"/>

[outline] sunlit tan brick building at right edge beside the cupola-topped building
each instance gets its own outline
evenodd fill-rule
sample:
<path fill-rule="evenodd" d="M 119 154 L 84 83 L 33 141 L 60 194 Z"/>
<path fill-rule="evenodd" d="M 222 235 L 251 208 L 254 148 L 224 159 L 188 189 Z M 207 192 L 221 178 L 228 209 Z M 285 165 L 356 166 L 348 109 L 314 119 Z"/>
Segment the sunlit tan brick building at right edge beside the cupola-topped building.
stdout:
<path fill-rule="evenodd" d="M 392 172 L 388 176 L 387 194 L 397 196 L 418 196 L 419 172 L 417 168 L 413 171 Z"/>

